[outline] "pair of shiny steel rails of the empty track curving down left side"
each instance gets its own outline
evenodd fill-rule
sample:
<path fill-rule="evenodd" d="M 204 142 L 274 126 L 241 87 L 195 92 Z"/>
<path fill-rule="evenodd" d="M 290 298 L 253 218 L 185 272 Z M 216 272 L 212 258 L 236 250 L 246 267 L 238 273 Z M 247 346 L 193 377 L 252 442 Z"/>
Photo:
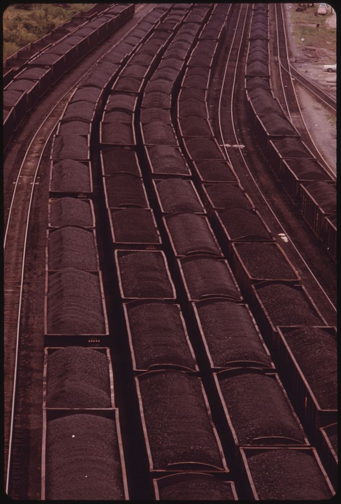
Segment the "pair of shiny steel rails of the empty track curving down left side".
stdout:
<path fill-rule="evenodd" d="M 144 4 L 137 4 L 137 5 L 139 6 L 138 11 L 140 11 L 144 7 Z M 137 11 L 135 11 L 134 13 L 136 13 L 136 12 Z M 116 45 L 117 43 L 119 43 L 122 40 L 122 38 L 126 37 L 129 34 L 129 32 L 134 28 L 134 26 L 135 25 L 133 25 L 131 27 L 131 29 L 128 30 L 121 37 L 121 39 L 119 39 L 114 45 Z M 121 27 L 119 27 L 119 28 L 121 28 Z M 110 47 L 110 49 L 108 49 L 108 51 L 105 52 L 99 59 L 102 59 L 103 57 L 105 57 L 105 55 L 108 54 L 111 50 L 112 50 L 112 47 Z M 74 83 L 71 86 L 71 88 L 69 88 L 69 90 L 67 90 L 66 93 L 64 93 L 64 95 L 58 100 L 58 102 L 56 103 L 56 105 L 54 105 L 54 107 L 51 109 L 51 111 L 46 116 L 46 118 L 43 120 L 43 122 L 39 125 L 39 128 L 38 128 L 37 132 L 35 133 L 34 137 L 32 138 L 32 140 L 30 142 L 30 145 L 29 145 L 29 147 L 28 147 L 28 149 L 26 151 L 26 154 L 24 156 L 24 160 L 23 160 L 23 162 L 21 164 L 20 171 L 19 171 L 18 176 L 17 176 L 15 190 L 14 190 L 13 196 L 12 196 L 10 213 L 9 213 L 9 216 L 8 216 L 7 228 L 6 228 L 6 233 L 5 233 L 4 249 L 5 249 L 5 246 L 6 246 L 6 240 L 7 240 L 8 230 L 9 230 L 9 222 L 10 222 L 11 215 L 12 215 L 12 210 L 13 210 L 13 205 L 14 205 L 14 200 L 15 200 L 15 194 L 16 194 L 16 189 L 17 189 L 17 186 L 18 186 L 18 183 L 19 183 L 19 178 L 21 176 L 22 169 L 23 169 L 23 167 L 25 165 L 25 160 L 27 158 L 27 154 L 28 154 L 30 148 L 32 147 L 34 140 L 36 139 L 37 134 L 40 132 L 41 128 L 43 127 L 43 125 L 45 124 L 45 122 L 47 121 L 47 119 L 50 117 L 50 115 L 52 114 L 52 112 L 55 110 L 55 108 L 58 105 L 60 105 L 60 103 L 61 103 L 62 100 L 65 100 L 66 96 L 71 95 L 72 92 L 74 92 L 74 90 L 77 88 L 77 86 L 82 81 L 82 79 L 97 65 L 97 61 L 96 61 L 96 63 L 92 67 L 88 68 L 86 70 L 86 72 L 84 72 L 82 74 L 82 76 L 76 81 L 76 83 Z M 62 111 L 62 113 L 63 113 L 63 111 Z M 36 166 L 36 169 L 35 169 L 35 173 L 33 175 L 33 183 L 31 184 L 32 188 L 31 188 L 31 191 L 30 191 L 29 206 L 28 206 L 28 211 L 27 211 L 27 215 L 26 215 L 26 227 L 25 227 L 24 244 L 23 244 L 21 280 L 20 280 L 20 292 L 19 292 L 19 308 L 18 308 L 18 317 L 17 317 L 16 351 L 15 351 L 14 379 L 13 379 L 13 392 L 12 392 L 12 411 L 11 411 L 11 423 L 10 423 L 10 435 L 9 435 L 9 450 L 8 450 L 7 474 L 6 474 L 6 493 L 7 493 L 7 495 L 8 495 L 8 492 L 9 492 L 9 485 L 10 485 L 10 472 L 11 472 L 10 469 L 11 469 L 12 442 L 13 442 L 13 429 L 14 429 L 14 410 L 15 410 L 16 386 L 17 386 L 17 375 L 18 375 L 19 332 L 20 332 L 20 319 L 21 319 L 20 316 L 21 316 L 21 306 L 22 306 L 22 297 L 23 297 L 23 285 L 24 285 L 24 272 L 25 272 L 25 259 L 26 259 L 26 245 L 27 245 L 28 227 L 29 227 L 29 221 L 30 221 L 30 213 L 31 213 L 31 208 L 32 208 L 32 200 L 33 200 L 34 188 L 35 188 L 36 178 L 37 178 L 37 174 L 38 174 L 38 171 L 39 171 L 41 159 L 42 159 L 44 150 L 45 150 L 45 148 L 46 148 L 46 146 L 47 146 L 47 144 L 49 142 L 49 139 L 50 139 L 53 131 L 55 130 L 55 128 L 56 128 L 56 126 L 57 126 L 57 124 L 58 124 L 58 122 L 59 122 L 59 120 L 60 120 L 61 117 L 62 117 L 62 115 L 60 115 L 58 117 L 57 121 L 54 123 L 53 128 L 51 129 L 51 131 L 50 131 L 47 139 L 45 140 L 44 146 L 43 146 L 42 151 L 40 153 L 39 161 L 37 163 L 37 166 Z"/>

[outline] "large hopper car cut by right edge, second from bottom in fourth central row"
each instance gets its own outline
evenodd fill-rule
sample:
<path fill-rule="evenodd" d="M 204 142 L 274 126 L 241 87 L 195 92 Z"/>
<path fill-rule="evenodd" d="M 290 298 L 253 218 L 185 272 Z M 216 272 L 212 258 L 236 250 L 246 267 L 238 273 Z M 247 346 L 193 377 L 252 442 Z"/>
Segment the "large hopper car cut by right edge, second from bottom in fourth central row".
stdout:
<path fill-rule="evenodd" d="M 336 329 L 277 327 L 275 349 L 288 394 L 307 431 L 337 421 Z"/>

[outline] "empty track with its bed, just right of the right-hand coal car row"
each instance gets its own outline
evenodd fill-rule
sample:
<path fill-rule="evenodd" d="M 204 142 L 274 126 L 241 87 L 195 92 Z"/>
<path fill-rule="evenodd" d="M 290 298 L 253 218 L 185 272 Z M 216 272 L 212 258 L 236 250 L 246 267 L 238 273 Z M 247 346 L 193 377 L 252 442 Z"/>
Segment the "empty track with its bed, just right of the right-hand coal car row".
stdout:
<path fill-rule="evenodd" d="M 320 161 L 326 172 L 333 180 L 336 180 L 336 167 L 332 167 L 328 164 L 326 159 L 321 154 L 316 143 L 314 142 L 312 136 L 309 133 L 309 129 L 304 120 L 302 110 L 297 98 L 296 90 L 294 87 L 293 78 L 295 77 L 292 72 L 292 66 L 289 62 L 288 54 L 288 41 L 287 34 L 285 30 L 285 21 L 283 14 L 283 5 L 276 4 L 274 6 L 275 16 L 276 16 L 276 28 L 277 28 L 277 47 L 278 47 L 278 61 L 280 64 L 280 74 L 282 90 L 285 98 L 285 103 L 288 111 L 288 116 L 290 121 L 293 123 L 295 128 L 301 134 L 302 140 L 312 148 L 312 152 L 315 154 L 316 158 Z M 308 83 L 304 83 L 305 87 L 309 90 L 313 90 L 313 86 Z M 330 103 L 330 99 L 329 99 Z M 336 111 L 336 107 L 334 109 Z"/>

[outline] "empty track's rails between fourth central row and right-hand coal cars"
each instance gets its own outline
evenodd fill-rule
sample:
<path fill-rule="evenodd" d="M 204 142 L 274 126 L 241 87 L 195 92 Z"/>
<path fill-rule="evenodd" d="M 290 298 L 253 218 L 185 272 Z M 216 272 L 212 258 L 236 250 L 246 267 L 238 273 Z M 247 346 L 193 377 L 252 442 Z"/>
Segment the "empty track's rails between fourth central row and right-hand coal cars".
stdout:
<path fill-rule="evenodd" d="M 248 7 L 247 7 L 248 9 Z M 239 18 L 238 18 L 238 22 L 239 22 Z M 279 224 L 279 226 L 281 227 L 281 229 L 283 230 L 283 232 L 285 233 L 285 235 L 288 237 L 288 240 L 290 241 L 291 245 L 294 247 L 294 249 L 296 250 L 297 254 L 299 255 L 299 257 L 301 258 L 302 262 L 305 264 L 306 268 L 308 269 L 308 271 L 310 272 L 311 276 L 314 278 L 316 284 L 318 285 L 318 287 L 320 288 L 320 290 L 323 292 L 324 296 L 326 297 L 327 301 L 330 303 L 331 307 L 333 308 L 333 310 L 336 312 L 336 306 L 334 305 L 334 303 L 332 302 L 332 300 L 329 298 L 328 294 L 325 292 L 324 288 L 322 287 L 322 285 L 319 283 L 319 281 L 317 280 L 317 278 L 315 277 L 314 273 L 312 272 L 312 270 L 310 269 L 309 265 L 306 263 L 306 261 L 304 260 L 303 256 L 301 255 L 300 251 L 298 250 L 298 248 L 296 247 L 295 243 L 293 242 L 293 240 L 291 239 L 289 233 L 287 232 L 286 229 L 284 229 L 281 221 L 279 220 L 279 218 L 277 217 L 277 215 L 275 214 L 274 210 L 272 210 L 271 206 L 268 204 L 267 202 L 267 199 L 266 197 L 264 196 L 264 194 L 262 193 L 261 191 L 261 188 L 259 187 L 257 181 L 255 180 L 253 174 L 252 174 L 252 171 L 250 170 L 249 166 L 248 166 L 248 163 L 247 161 L 245 160 L 245 157 L 243 155 L 243 152 L 242 152 L 242 149 L 240 148 L 240 145 L 239 145 L 239 141 L 238 141 L 238 138 L 237 138 L 237 133 L 236 133 L 236 129 L 235 129 L 235 122 L 234 122 L 234 116 L 233 116 L 233 98 L 234 98 L 234 89 L 235 89 L 235 85 L 236 85 L 236 75 L 237 75 L 237 69 L 238 69 L 238 60 L 239 60 L 239 55 L 240 55 L 240 50 L 241 50 L 241 45 L 242 45 L 242 41 L 243 41 L 243 36 L 244 36 L 244 31 L 245 31 L 245 23 L 246 23 L 246 16 L 244 17 L 244 26 L 243 26 L 243 34 L 241 36 L 241 40 L 240 40 L 240 44 L 239 44 L 239 48 L 238 48 L 238 55 L 237 55 L 237 63 L 235 65 L 235 71 L 234 71 L 234 78 L 233 78 L 233 85 L 232 85 L 232 93 L 231 93 L 231 123 L 232 123 L 232 127 L 233 127 L 233 133 L 234 133 L 234 136 L 235 136 L 235 140 L 236 140 L 236 144 L 238 145 L 238 150 L 239 150 L 239 153 L 241 155 L 241 158 L 243 160 L 243 163 L 250 175 L 250 177 L 252 178 L 255 186 L 257 187 L 257 190 L 260 194 L 260 196 L 262 197 L 264 203 L 266 204 L 266 206 L 268 207 L 268 209 L 270 210 L 271 214 L 274 216 L 274 218 L 276 219 L 277 223 Z M 236 33 L 237 30 L 235 30 L 235 33 Z M 234 37 L 235 38 L 235 37 Z M 225 65 L 225 71 L 224 71 L 224 77 L 223 77 L 223 82 L 222 82 L 222 86 L 221 86 L 221 91 L 220 91 L 220 97 L 219 97 L 219 105 L 218 105 L 218 120 L 219 120 L 219 129 L 220 129 L 220 135 L 221 135 L 221 138 L 222 138 L 222 144 L 224 146 L 224 150 L 225 150 L 225 153 L 226 153 L 226 156 L 227 156 L 227 159 L 229 160 L 230 164 L 231 164 L 231 159 L 230 159 L 230 156 L 228 154 L 228 151 L 227 151 L 227 148 L 226 148 L 226 145 L 225 145 L 225 140 L 224 140 L 224 134 L 223 134 L 223 128 L 222 128 L 222 120 L 221 120 L 221 116 L 222 116 L 222 108 L 221 108 L 221 101 L 222 101 L 222 96 L 223 96 L 223 92 L 224 92 L 224 87 L 225 87 L 225 79 L 226 79 L 226 74 L 227 74 L 227 69 L 228 69 L 228 66 L 229 66 L 229 62 L 230 62 L 230 54 L 231 54 L 231 50 L 232 50 L 232 45 L 233 45 L 233 42 L 234 42 L 234 38 L 233 38 L 233 41 L 231 43 L 231 48 L 230 48 L 230 51 L 229 51 L 229 54 L 228 54 L 228 57 L 227 57 L 227 61 L 226 61 L 226 65 Z"/>

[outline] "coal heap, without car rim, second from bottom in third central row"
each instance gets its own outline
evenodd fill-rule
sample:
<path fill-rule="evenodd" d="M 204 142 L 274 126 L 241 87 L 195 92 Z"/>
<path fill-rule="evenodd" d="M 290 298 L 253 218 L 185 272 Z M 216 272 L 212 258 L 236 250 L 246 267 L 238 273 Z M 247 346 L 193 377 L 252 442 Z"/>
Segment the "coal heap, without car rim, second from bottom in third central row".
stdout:
<path fill-rule="evenodd" d="M 304 443 L 303 430 L 274 377 L 243 372 L 226 376 L 219 384 L 239 445 L 258 444 L 257 437 L 272 436 Z"/>

